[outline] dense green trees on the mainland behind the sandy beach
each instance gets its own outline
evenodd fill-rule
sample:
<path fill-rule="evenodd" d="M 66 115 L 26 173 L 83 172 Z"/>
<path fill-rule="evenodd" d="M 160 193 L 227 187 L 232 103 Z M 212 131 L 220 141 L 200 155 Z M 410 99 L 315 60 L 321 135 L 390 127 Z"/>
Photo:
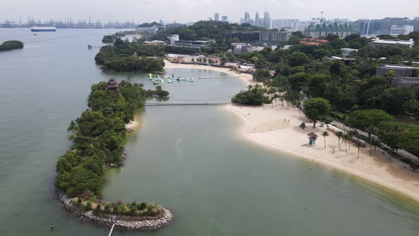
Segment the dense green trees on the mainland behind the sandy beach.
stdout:
<path fill-rule="evenodd" d="M 383 63 L 413 65 L 412 61 L 419 60 L 419 32 L 398 38 L 413 38 L 416 45 L 413 48 L 400 45 L 374 47 L 368 38 L 355 34 L 343 39 L 327 36 L 328 42 L 321 45 L 304 45 L 295 41 L 295 45 L 287 50 L 266 47 L 259 52 L 239 56 L 224 53 L 223 56 L 228 60 L 255 63 L 259 69 L 254 72 L 254 78 L 265 85 L 264 91 L 270 97 L 267 103 L 279 96 L 280 100 L 302 107 L 314 122 L 337 119 L 355 131 L 369 134 L 366 141 L 370 143 L 383 143 L 384 148 L 388 147 L 391 152 L 403 148 L 419 155 L 418 126 L 401 124 L 393 117 L 403 114 L 418 119 L 418 94 L 405 87 L 392 87 L 390 79 L 396 75 L 393 71 L 384 76 L 376 75 L 376 67 Z M 323 57 L 339 55 L 340 48 L 344 47 L 359 49 L 352 55 L 356 63 L 344 65 L 339 60 L 321 63 Z M 275 75 L 268 70 L 275 71 Z M 271 90 L 276 92 L 270 95 L 268 91 Z M 238 95 L 242 97 L 249 93 Z M 238 95 L 232 102 L 254 104 L 252 100 L 237 100 Z M 303 97 L 308 97 L 304 104 Z M 321 109 L 316 107 L 320 100 L 325 105 Z M 311 104 L 314 101 L 315 104 Z M 309 105 L 315 109 L 308 109 Z"/>

